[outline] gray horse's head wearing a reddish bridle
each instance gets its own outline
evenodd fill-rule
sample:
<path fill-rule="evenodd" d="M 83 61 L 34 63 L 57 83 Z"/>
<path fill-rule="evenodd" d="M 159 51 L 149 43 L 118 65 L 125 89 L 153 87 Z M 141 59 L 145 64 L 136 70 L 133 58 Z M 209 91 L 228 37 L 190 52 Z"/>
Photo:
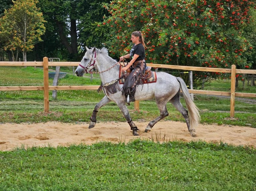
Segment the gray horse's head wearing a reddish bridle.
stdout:
<path fill-rule="evenodd" d="M 86 50 L 85 56 L 75 71 L 77 76 L 83 76 L 84 73 L 90 73 L 90 71 L 95 68 L 96 48 L 89 49 L 86 47 Z"/>

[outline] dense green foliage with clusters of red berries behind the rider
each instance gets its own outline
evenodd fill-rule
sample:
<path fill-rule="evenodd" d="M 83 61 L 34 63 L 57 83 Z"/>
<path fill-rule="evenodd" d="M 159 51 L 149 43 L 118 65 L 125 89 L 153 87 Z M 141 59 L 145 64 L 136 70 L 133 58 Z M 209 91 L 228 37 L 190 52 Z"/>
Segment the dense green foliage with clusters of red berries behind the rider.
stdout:
<path fill-rule="evenodd" d="M 245 69 L 253 47 L 244 30 L 254 6 L 252 0 L 114 0 L 105 4 L 111 16 L 101 26 L 110 28 L 106 46 L 112 56 L 128 53 L 131 33 L 140 30 L 149 47 L 147 62 Z M 220 75 L 197 72 L 195 79 Z"/>

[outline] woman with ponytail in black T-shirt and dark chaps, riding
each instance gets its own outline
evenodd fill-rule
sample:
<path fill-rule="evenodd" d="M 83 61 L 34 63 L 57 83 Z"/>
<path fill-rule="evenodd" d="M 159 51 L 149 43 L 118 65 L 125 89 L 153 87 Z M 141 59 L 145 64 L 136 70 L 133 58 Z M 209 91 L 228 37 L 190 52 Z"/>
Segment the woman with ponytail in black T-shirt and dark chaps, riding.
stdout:
<path fill-rule="evenodd" d="M 134 31 L 131 35 L 131 41 L 134 43 L 130 50 L 130 54 L 121 56 L 120 60 L 130 58 L 131 61 L 121 69 L 121 72 L 125 72 L 130 67 L 132 69 L 130 75 L 125 79 L 122 94 L 126 97 L 126 102 L 129 104 L 131 101 L 135 101 L 134 94 L 136 86 L 142 84 L 141 77 L 145 72 L 145 43 L 144 38 L 140 31 Z"/>

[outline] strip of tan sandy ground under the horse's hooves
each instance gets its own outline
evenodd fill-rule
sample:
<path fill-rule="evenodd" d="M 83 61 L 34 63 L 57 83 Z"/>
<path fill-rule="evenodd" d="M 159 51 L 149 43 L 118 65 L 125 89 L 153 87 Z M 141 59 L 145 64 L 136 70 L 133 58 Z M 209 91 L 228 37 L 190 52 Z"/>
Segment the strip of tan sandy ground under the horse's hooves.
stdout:
<path fill-rule="evenodd" d="M 197 137 L 191 137 L 186 124 L 174 121 L 160 121 L 150 132 L 144 129 L 148 122 L 137 122 L 140 136 L 133 136 L 126 122 L 98 122 L 92 129 L 89 123 L 69 124 L 60 122 L 47 123 L 3 123 L 0 124 L 0 150 L 13 150 L 17 147 L 32 146 L 69 146 L 72 144 L 93 144 L 100 141 L 125 142 L 134 138 L 156 140 L 203 140 L 206 142 L 256 147 L 256 128 L 231 125 L 203 125 L 196 131 Z"/>

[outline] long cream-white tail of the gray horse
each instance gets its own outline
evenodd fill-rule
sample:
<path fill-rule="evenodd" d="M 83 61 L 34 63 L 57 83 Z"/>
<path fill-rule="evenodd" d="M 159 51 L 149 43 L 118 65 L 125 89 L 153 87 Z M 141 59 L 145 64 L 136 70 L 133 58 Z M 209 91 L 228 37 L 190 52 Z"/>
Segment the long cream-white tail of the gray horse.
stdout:
<path fill-rule="evenodd" d="M 198 123 L 200 122 L 201 119 L 199 109 L 191 99 L 185 82 L 179 77 L 177 77 L 177 80 L 180 84 L 182 95 L 185 99 L 186 107 L 188 109 L 190 128 L 194 129 L 198 126 Z"/>

